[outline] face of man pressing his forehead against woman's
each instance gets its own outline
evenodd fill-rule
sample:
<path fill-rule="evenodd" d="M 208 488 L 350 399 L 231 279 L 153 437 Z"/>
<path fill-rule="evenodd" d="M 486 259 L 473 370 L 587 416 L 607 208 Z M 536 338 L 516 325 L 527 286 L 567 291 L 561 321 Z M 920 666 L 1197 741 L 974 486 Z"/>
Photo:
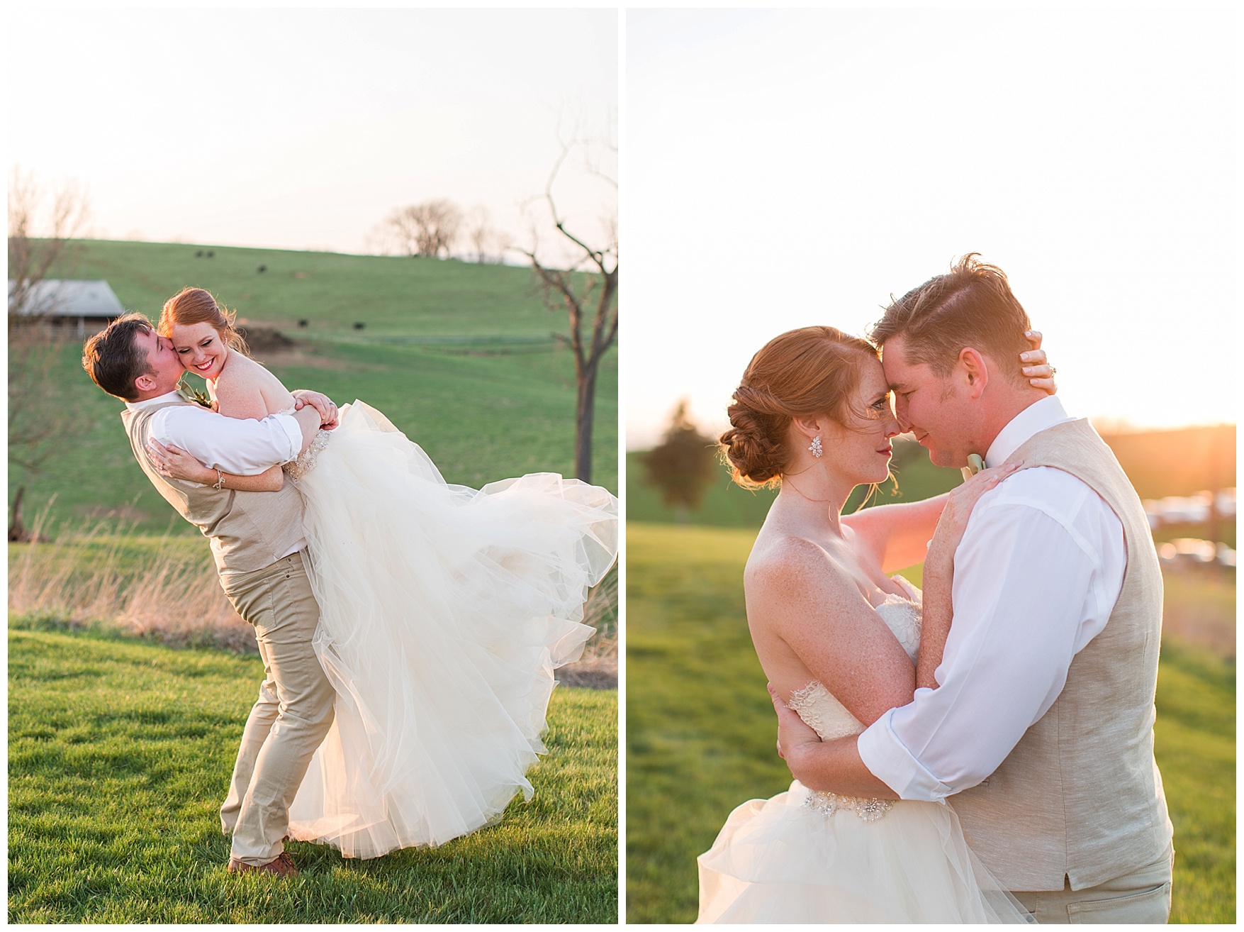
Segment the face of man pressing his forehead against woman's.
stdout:
<path fill-rule="evenodd" d="M 940 467 L 968 462 L 970 412 L 955 391 L 954 378 L 938 376 L 927 363 L 911 363 L 902 336 L 891 337 L 881 350 L 886 381 L 894 392 L 894 414 Z"/>

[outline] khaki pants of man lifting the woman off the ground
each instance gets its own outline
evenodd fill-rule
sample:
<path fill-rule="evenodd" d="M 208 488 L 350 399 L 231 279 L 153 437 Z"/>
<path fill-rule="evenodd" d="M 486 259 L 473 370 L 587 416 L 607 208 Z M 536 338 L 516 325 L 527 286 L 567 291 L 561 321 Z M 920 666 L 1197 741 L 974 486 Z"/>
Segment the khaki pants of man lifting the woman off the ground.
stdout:
<path fill-rule="evenodd" d="M 234 857 L 261 865 L 285 850 L 290 804 L 332 724 L 335 692 L 311 648 L 320 606 L 301 552 L 254 572 L 221 574 L 220 585 L 255 626 L 264 659 L 220 825 L 233 831 Z"/>

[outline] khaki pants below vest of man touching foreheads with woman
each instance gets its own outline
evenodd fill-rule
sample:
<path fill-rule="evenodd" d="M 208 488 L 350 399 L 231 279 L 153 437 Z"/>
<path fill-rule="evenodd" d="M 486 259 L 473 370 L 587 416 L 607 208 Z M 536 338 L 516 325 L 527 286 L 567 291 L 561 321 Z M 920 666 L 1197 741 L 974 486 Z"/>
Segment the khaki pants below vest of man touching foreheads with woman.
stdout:
<path fill-rule="evenodd" d="M 1162 923 L 1171 918 L 1171 872 L 1174 852 L 1153 864 L 1095 887 L 1015 893 L 1041 923 Z"/>

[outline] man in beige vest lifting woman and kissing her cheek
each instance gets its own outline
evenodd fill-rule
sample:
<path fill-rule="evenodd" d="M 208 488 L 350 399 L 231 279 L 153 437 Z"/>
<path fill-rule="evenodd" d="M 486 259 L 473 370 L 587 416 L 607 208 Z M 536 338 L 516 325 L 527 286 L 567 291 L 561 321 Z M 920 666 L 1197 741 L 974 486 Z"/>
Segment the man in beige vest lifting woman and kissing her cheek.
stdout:
<path fill-rule="evenodd" d="M 233 831 L 230 874 L 294 876 L 297 869 L 281 844 L 289 808 L 332 724 L 335 696 L 311 647 L 320 607 L 302 560 L 302 500 L 292 485 L 259 493 L 228 488 L 228 477 L 214 485 L 168 479 L 153 467 L 147 443 L 173 443 L 221 473 L 260 473 L 306 449 L 321 422 L 332 426 L 336 407 L 322 394 L 295 392 L 299 409 L 292 416 L 243 421 L 188 402 L 177 391 L 184 373 L 177 352 L 141 314 L 118 317 L 91 337 L 82 367 L 126 402 L 121 419 L 138 465 L 211 540 L 220 585 L 255 627 L 265 677 L 243 730 L 220 821 Z"/>

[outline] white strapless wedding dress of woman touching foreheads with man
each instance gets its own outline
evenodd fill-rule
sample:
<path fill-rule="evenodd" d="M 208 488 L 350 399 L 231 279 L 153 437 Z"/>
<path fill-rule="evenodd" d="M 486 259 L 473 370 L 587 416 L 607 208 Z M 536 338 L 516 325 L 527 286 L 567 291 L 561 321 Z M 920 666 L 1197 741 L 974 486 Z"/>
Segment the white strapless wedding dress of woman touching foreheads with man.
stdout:
<path fill-rule="evenodd" d="M 888 595 L 877 613 L 914 663 L 921 595 L 896 580 L 909 599 Z M 824 740 L 863 730 L 816 681 L 790 707 Z M 699 923 L 1034 922 L 940 803 L 855 799 L 795 780 L 730 813 L 698 861 Z"/>

